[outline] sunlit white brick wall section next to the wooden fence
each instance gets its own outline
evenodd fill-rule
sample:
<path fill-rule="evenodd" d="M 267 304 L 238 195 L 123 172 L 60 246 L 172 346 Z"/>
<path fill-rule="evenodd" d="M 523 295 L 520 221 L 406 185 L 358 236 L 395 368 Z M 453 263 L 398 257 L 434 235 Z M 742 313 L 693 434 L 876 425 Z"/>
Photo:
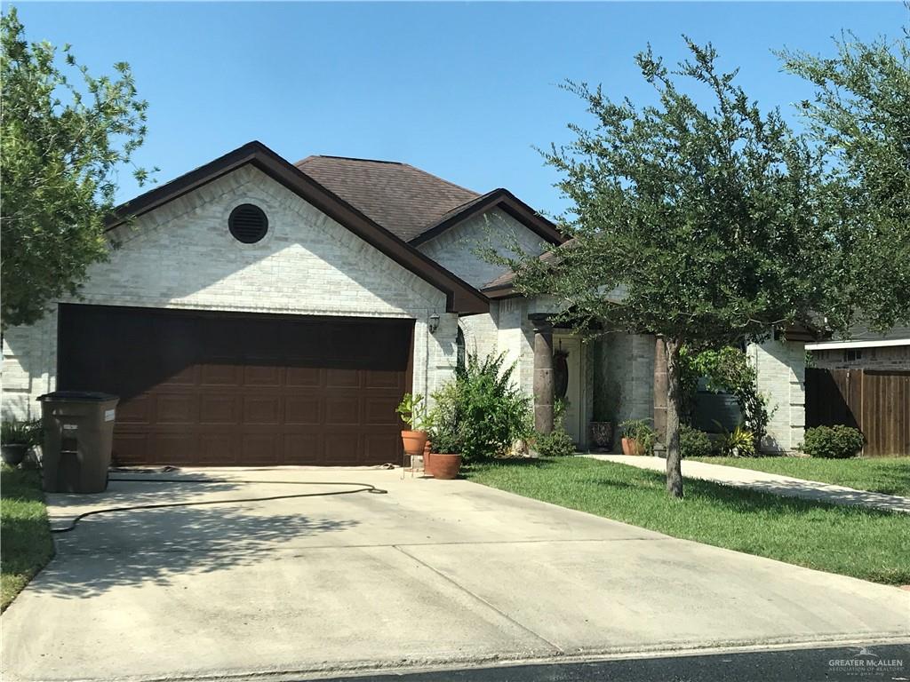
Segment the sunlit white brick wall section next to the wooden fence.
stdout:
<path fill-rule="evenodd" d="M 762 449 L 795 452 L 805 431 L 805 344 L 768 340 L 752 344 L 747 353 L 755 364 L 758 390 L 773 410 Z"/>

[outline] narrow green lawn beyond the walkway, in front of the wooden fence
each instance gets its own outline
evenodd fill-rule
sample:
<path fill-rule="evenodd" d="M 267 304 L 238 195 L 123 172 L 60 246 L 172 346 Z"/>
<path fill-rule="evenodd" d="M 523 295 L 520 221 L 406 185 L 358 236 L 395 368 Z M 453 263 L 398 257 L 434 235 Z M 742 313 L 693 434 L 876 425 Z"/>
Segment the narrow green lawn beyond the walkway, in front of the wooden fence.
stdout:
<path fill-rule="evenodd" d="M 739 466 L 770 474 L 854 487 L 874 493 L 910 496 L 910 457 L 696 457 L 699 462 Z"/>

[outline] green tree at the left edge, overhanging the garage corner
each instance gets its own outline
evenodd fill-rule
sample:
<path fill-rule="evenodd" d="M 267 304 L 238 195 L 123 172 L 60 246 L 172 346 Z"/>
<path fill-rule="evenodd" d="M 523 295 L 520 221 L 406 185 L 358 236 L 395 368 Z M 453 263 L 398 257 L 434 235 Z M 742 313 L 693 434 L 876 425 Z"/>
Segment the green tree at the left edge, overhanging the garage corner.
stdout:
<path fill-rule="evenodd" d="M 75 295 L 108 254 L 116 171 L 146 135 L 147 103 L 129 66 L 89 75 L 70 46 L 29 43 L 10 7 L 0 19 L 0 230 L 3 328 L 34 323 Z M 147 171 L 134 168 L 142 184 Z"/>

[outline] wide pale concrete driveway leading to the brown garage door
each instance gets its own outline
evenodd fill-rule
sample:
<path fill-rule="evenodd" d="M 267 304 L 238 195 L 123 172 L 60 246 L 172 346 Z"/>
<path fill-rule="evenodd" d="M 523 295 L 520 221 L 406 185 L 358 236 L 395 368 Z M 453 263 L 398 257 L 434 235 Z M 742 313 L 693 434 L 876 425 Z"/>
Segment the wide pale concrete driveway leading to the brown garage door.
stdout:
<path fill-rule="evenodd" d="M 200 476 L 181 472 L 179 476 Z M 87 518 L 0 619 L 5 679 L 295 677 L 910 638 L 910 593 L 400 471 L 212 471 L 112 483 L 90 508 L 358 493 Z M 301 489 L 304 488 L 304 489 Z M 844 549 L 849 551 L 849 549 Z"/>

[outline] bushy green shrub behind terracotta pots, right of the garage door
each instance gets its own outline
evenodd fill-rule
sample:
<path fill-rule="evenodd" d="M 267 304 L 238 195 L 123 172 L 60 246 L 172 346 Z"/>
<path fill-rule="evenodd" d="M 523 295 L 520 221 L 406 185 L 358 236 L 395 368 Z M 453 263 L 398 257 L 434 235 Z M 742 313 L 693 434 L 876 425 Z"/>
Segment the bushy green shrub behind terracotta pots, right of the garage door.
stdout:
<path fill-rule="evenodd" d="M 512 385 L 515 366 L 504 364 L 505 354 L 469 354 L 455 378 L 433 394 L 434 452 L 444 449 L 476 461 L 505 455 L 517 439 L 531 434 L 531 399 Z"/>

